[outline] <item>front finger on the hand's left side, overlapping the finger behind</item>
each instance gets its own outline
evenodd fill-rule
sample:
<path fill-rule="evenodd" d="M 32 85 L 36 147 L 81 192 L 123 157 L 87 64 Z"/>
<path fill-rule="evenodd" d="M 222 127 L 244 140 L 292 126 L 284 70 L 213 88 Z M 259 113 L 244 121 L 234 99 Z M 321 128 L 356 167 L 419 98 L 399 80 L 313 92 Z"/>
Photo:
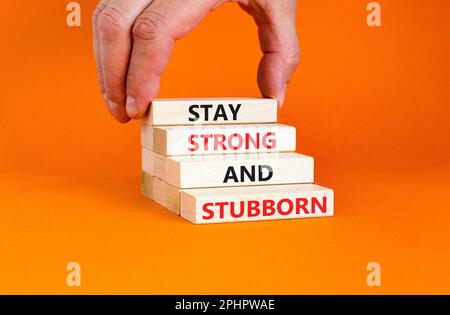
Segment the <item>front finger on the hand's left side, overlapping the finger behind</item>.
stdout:
<path fill-rule="evenodd" d="M 159 90 L 175 40 L 190 32 L 223 0 L 155 0 L 137 19 L 127 75 L 126 110 L 141 118 Z"/>

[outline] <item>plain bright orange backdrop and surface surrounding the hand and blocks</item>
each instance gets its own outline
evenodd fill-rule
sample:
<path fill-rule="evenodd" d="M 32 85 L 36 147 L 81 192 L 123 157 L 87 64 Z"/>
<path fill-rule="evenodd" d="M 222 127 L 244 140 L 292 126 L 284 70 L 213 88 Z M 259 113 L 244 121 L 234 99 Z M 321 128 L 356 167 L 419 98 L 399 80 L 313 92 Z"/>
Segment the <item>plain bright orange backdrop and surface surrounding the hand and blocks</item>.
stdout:
<path fill-rule="evenodd" d="M 207 226 L 140 195 L 139 123 L 102 102 L 96 3 L 79 2 L 79 28 L 68 1 L 0 3 L 0 293 L 450 293 L 450 1 L 380 1 L 379 28 L 367 0 L 299 1 L 279 120 L 336 215 Z M 176 44 L 159 96 L 258 96 L 259 58 L 252 19 L 225 4 Z"/>

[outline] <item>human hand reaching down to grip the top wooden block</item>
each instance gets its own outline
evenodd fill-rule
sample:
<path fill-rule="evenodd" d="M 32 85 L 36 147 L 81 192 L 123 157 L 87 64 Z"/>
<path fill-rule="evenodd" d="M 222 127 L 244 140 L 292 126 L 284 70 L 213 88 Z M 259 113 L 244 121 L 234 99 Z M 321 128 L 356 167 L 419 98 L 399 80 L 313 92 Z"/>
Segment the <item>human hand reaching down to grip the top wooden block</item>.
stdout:
<path fill-rule="evenodd" d="M 101 0 L 93 15 L 100 89 L 122 123 L 141 118 L 156 97 L 174 42 L 226 0 Z M 295 0 L 234 0 L 258 25 L 258 85 L 283 103 L 299 62 Z"/>

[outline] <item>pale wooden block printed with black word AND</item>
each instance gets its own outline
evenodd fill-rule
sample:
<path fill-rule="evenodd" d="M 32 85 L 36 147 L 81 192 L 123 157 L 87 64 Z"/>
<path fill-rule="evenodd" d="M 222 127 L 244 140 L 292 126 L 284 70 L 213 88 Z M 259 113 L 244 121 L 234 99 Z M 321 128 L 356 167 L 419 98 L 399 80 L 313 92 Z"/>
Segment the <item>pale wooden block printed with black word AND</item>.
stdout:
<path fill-rule="evenodd" d="M 158 174 L 162 174 L 161 178 L 179 188 L 300 184 L 314 181 L 314 159 L 292 152 L 172 156 L 166 157 L 164 164 L 164 171 L 158 170 Z M 161 164 L 157 167 L 161 167 Z"/>

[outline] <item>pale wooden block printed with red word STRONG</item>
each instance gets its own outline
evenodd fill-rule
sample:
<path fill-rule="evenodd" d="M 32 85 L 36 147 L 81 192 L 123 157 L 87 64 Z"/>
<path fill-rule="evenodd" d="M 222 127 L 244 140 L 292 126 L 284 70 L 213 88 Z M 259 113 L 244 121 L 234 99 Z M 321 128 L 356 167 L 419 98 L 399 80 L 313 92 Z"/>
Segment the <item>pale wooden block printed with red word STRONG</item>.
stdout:
<path fill-rule="evenodd" d="M 200 155 L 295 151 L 295 127 L 282 124 L 217 126 L 143 126 L 153 128 L 152 146 L 142 146 L 161 155 Z"/>

